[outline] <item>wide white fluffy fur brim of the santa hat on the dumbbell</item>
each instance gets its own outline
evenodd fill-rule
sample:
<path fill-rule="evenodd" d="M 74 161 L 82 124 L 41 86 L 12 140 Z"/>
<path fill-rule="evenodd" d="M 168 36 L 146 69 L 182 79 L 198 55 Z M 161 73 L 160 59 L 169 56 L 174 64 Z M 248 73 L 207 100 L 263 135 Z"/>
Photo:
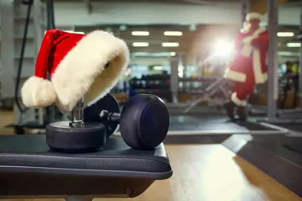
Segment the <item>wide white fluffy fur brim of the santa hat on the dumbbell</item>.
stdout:
<path fill-rule="evenodd" d="M 103 31 L 87 34 L 52 75 L 59 109 L 71 111 L 83 96 L 85 105 L 95 103 L 114 87 L 128 63 L 129 50 L 123 40 Z"/>

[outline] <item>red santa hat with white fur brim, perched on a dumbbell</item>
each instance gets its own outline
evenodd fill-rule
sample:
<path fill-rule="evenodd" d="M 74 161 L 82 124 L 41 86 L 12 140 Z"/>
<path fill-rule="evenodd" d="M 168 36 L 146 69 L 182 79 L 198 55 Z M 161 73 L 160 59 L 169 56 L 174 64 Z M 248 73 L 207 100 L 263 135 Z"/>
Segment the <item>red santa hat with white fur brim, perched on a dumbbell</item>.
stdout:
<path fill-rule="evenodd" d="M 48 30 L 38 53 L 35 76 L 21 89 L 22 100 L 27 107 L 56 102 L 62 112 L 71 111 L 82 97 L 85 105 L 91 105 L 113 88 L 128 62 L 127 45 L 113 34 Z"/>

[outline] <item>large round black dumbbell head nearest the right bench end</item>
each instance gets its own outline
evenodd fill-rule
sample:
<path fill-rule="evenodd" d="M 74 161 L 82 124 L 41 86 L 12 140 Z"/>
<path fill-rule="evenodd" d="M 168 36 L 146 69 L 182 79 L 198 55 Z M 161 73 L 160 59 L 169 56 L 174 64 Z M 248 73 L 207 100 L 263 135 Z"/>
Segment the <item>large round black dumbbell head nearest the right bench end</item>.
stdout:
<path fill-rule="evenodd" d="M 168 133 L 169 111 L 157 96 L 139 94 L 124 106 L 119 123 L 126 144 L 140 150 L 152 149 Z"/>

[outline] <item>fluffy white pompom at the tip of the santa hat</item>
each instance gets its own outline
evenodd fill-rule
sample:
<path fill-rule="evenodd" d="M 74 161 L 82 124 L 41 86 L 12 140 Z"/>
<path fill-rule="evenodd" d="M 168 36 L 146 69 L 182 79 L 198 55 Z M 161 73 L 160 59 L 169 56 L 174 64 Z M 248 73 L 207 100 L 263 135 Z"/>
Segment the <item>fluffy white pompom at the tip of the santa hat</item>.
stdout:
<path fill-rule="evenodd" d="M 27 107 L 46 107 L 55 102 L 56 93 L 49 80 L 30 77 L 22 86 L 21 97 Z"/>

